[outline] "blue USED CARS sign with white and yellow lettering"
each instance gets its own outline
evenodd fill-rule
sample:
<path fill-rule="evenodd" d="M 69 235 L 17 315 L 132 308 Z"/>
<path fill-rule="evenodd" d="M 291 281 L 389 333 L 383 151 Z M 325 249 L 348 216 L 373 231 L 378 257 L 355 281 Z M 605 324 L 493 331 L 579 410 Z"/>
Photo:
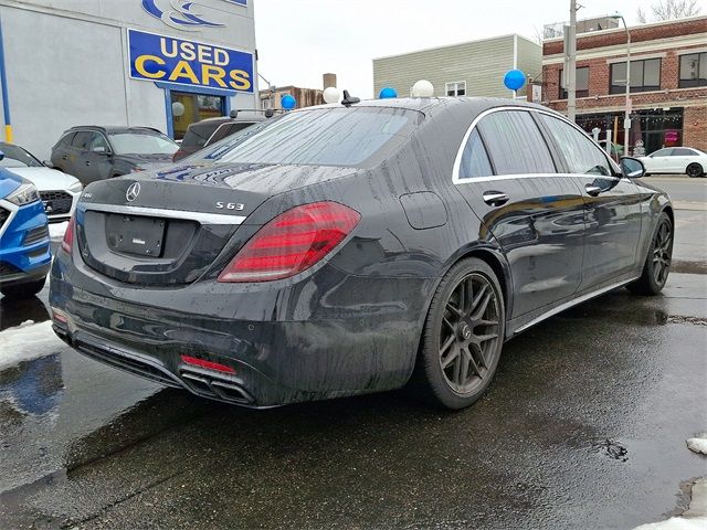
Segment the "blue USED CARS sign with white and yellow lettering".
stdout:
<path fill-rule="evenodd" d="M 253 92 L 253 54 L 128 30 L 134 80 Z"/>

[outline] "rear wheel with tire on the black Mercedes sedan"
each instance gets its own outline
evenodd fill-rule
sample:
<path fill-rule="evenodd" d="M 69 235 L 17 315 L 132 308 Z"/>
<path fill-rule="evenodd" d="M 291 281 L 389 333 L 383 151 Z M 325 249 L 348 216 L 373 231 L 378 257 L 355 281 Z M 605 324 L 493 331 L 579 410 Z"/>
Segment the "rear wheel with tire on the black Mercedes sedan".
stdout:
<path fill-rule="evenodd" d="M 450 410 L 478 400 L 498 365 L 505 317 L 500 285 L 488 264 L 473 257 L 455 264 L 432 298 L 413 388 Z"/>

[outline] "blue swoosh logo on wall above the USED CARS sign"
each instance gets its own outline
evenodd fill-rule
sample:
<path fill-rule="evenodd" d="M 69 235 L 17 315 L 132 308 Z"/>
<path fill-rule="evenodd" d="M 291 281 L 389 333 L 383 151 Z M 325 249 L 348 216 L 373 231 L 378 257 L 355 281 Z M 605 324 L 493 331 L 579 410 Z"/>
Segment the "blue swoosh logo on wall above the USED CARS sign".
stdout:
<path fill-rule="evenodd" d="M 247 0 L 143 0 L 143 9 L 170 28 L 198 30 L 199 28 L 221 28 L 224 24 L 211 17 L 217 17 L 219 6 L 212 3 L 231 3 L 247 6 Z M 204 15 L 204 9 L 212 15 Z"/>

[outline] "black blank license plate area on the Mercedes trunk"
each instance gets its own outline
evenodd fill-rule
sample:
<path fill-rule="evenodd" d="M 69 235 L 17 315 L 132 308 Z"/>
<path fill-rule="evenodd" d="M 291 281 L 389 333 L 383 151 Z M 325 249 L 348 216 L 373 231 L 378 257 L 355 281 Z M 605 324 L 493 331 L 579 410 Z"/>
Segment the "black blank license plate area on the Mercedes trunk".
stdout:
<path fill-rule="evenodd" d="M 116 252 L 160 257 L 166 224 L 163 219 L 109 215 L 106 225 L 108 246 Z"/>

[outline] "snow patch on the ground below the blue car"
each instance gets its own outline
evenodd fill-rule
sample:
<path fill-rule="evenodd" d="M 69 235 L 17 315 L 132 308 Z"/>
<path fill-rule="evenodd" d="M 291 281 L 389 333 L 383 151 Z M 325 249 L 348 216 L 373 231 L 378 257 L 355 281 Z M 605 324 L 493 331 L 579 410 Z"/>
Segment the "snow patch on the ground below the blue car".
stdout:
<path fill-rule="evenodd" d="M 52 331 L 51 320 L 42 324 L 28 320 L 0 332 L 0 370 L 51 356 L 63 347 L 64 343 Z"/>

